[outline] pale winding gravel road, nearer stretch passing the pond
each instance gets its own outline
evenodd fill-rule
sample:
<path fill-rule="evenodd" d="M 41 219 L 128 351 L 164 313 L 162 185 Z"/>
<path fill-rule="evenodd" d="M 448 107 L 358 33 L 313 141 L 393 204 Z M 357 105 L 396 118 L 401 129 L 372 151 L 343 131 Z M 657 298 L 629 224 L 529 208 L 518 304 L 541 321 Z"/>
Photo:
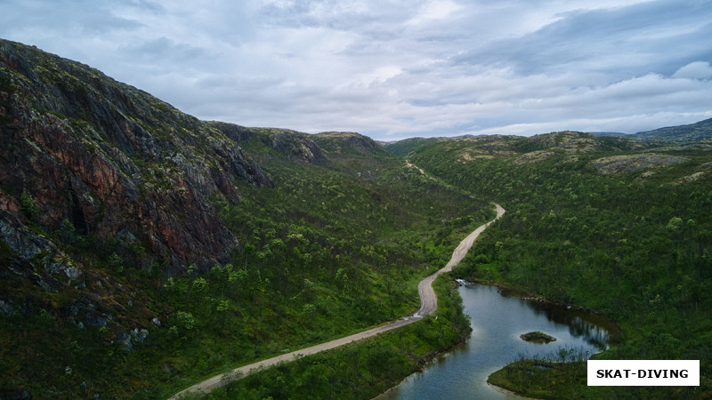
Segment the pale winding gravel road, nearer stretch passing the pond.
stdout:
<path fill-rule="evenodd" d="M 239 368 L 235 368 L 231 372 L 215 375 L 214 377 L 209 378 L 207 380 L 203 380 L 202 382 L 199 382 L 191 386 L 190 388 L 186 388 L 176 393 L 174 396 L 169 397 L 169 400 L 180 398 L 181 396 L 188 395 L 189 393 L 208 393 L 214 388 L 219 388 L 221 386 L 227 385 L 232 380 L 239 380 L 245 375 L 250 374 L 252 372 L 257 372 L 259 370 L 262 370 L 263 368 L 267 368 L 282 362 L 292 361 L 301 356 L 310 356 L 312 354 L 319 353 L 320 351 L 328 350 L 331 348 L 338 348 L 344 346 L 345 344 L 352 343 L 353 341 L 370 338 L 372 336 L 376 336 L 379 333 L 388 332 L 403 325 L 413 324 L 424 316 L 429 316 L 433 314 L 438 309 L 438 297 L 435 295 L 435 291 L 433 291 L 433 281 L 442 273 L 449 272 L 450 270 L 452 270 L 454 266 L 456 266 L 462 259 L 464 259 L 465 255 L 467 254 L 467 251 L 470 250 L 470 247 L 473 246 L 474 240 L 477 238 L 477 236 L 480 236 L 482 231 L 484 231 L 487 227 L 490 226 L 492 222 L 498 220 L 499 217 L 501 217 L 505 213 L 505 209 L 502 208 L 499 204 L 495 204 L 495 207 L 497 210 L 497 217 L 495 217 L 494 220 L 490 220 L 490 222 L 481 225 L 480 228 L 475 229 L 473 233 L 465 237 L 465 239 L 457 245 L 455 251 L 452 253 L 452 257 L 445 265 L 445 267 L 436 271 L 435 273 L 433 273 L 433 275 L 426 277 L 417 285 L 417 292 L 420 295 L 420 308 L 415 314 L 411 316 L 405 316 L 389 324 L 376 326 L 376 328 L 369 329 L 368 331 L 354 333 L 351 336 L 331 340 L 326 343 L 321 343 L 312 346 L 310 348 L 302 348 L 301 350 L 295 350 L 290 353 L 283 354 L 281 356 L 275 356 L 266 360 L 258 361 L 253 364 L 243 365 Z"/>

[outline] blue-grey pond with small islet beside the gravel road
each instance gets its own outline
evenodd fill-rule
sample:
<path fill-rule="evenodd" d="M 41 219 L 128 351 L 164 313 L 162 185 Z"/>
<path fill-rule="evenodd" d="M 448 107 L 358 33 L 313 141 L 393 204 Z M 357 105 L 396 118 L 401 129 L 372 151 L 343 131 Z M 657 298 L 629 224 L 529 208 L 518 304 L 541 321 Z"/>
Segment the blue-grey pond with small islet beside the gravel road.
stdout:
<path fill-rule="evenodd" d="M 503 399 L 519 398 L 490 386 L 487 377 L 522 356 L 550 356 L 574 348 L 589 356 L 605 346 L 609 332 L 595 319 L 567 308 L 508 297 L 487 285 L 461 286 L 465 313 L 472 318 L 467 342 L 410 375 L 377 398 L 391 399 Z M 537 344 L 520 339 L 522 333 L 541 331 L 556 341 Z"/>

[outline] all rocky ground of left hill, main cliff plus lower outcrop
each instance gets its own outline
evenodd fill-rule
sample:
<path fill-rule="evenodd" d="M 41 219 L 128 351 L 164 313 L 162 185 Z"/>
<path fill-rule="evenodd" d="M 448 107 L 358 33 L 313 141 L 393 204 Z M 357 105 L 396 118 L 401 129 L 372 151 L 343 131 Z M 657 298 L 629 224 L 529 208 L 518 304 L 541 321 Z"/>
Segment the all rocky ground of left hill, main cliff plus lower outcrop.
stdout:
<path fill-rule="evenodd" d="M 271 185 L 238 146 L 253 134 L 0 41 L 0 312 L 46 306 L 80 326 L 125 325 L 126 347 L 142 340 L 159 324 L 150 301 L 99 265 L 174 274 L 229 260 L 240 244 L 209 199 Z"/>

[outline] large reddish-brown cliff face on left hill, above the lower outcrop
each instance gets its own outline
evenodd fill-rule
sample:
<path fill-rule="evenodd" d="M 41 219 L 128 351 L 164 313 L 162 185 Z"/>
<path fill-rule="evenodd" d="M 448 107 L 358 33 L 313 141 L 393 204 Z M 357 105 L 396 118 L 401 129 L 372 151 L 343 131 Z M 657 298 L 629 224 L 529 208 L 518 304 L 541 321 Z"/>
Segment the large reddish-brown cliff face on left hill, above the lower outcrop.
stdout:
<path fill-rule="evenodd" d="M 207 198 L 236 203 L 239 185 L 271 185 L 237 147 L 247 128 L 200 122 L 95 69 L 7 41 L 0 128 L 0 209 L 20 225 L 31 218 L 54 231 L 67 220 L 77 234 L 118 240 L 138 267 L 228 260 L 238 241 Z M 35 215 L 20 212 L 23 193 Z M 140 260 L 135 249 L 146 251 Z"/>

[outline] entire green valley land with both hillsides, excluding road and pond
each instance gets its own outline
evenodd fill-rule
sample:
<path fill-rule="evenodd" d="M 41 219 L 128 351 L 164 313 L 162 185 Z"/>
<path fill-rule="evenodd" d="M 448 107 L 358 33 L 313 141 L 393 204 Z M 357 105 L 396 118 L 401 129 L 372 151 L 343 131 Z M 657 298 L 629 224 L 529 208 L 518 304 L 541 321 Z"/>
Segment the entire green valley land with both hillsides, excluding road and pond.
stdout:
<path fill-rule="evenodd" d="M 708 121 L 377 143 L 200 121 L 0 40 L 0 134 L 0 397 L 167 398 L 434 312 L 206 396 L 372 398 L 470 335 L 455 278 L 611 318 L 597 357 L 700 360 L 700 387 L 662 389 L 567 364 L 534 377 L 554 398 L 712 396 Z"/>

